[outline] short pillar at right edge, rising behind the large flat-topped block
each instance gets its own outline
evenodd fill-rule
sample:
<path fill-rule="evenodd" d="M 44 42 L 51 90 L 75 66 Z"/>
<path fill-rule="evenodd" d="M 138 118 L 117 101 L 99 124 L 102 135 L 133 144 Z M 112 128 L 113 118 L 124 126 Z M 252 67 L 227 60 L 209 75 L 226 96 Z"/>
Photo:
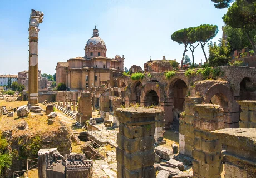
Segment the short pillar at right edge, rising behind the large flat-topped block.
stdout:
<path fill-rule="evenodd" d="M 237 101 L 241 105 L 239 128 L 256 128 L 256 101 Z"/>

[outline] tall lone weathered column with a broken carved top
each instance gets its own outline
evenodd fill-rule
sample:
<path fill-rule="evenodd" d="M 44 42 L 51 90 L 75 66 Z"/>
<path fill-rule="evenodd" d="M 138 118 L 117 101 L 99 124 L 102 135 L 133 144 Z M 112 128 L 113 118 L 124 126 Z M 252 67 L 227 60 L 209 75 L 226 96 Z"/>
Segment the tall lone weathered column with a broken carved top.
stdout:
<path fill-rule="evenodd" d="M 38 32 L 39 23 L 43 22 L 41 11 L 31 10 L 29 21 L 29 72 L 28 72 L 28 92 L 31 106 L 38 104 Z"/>

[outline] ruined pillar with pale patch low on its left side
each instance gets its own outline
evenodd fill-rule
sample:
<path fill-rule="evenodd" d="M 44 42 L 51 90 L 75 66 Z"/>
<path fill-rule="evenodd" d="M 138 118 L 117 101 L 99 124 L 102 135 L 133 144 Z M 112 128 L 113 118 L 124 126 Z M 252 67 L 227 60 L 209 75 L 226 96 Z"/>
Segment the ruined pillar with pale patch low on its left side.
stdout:
<path fill-rule="evenodd" d="M 185 111 L 180 114 L 179 152 L 192 157 L 194 148 L 194 105 L 202 102 L 201 97 L 185 97 Z"/>

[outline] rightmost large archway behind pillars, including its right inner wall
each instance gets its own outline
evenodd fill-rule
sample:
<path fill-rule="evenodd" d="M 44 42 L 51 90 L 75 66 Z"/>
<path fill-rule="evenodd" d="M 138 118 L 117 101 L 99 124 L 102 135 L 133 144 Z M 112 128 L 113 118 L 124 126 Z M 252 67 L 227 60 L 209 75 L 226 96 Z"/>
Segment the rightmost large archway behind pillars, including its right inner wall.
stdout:
<path fill-rule="evenodd" d="M 214 84 L 205 93 L 204 103 L 221 105 L 224 110 L 225 128 L 239 127 L 239 105 L 235 102 L 230 88 L 223 84 Z"/>

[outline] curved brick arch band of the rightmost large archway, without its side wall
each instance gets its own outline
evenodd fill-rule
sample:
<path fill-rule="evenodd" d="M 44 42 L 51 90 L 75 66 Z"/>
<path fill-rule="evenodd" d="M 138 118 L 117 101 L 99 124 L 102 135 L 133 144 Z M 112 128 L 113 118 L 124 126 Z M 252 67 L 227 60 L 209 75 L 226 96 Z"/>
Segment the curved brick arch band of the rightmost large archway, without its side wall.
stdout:
<path fill-rule="evenodd" d="M 228 110 L 232 110 L 232 103 L 234 101 L 233 94 L 227 86 L 223 84 L 216 83 L 213 86 L 211 86 L 208 91 L 205 93 L 204 97 L 204 103 L 210 103 L 211 98 L 213 98 L 214 95 L 219 95 L 223 97 L 223 99 L 228 103 Z"/>

